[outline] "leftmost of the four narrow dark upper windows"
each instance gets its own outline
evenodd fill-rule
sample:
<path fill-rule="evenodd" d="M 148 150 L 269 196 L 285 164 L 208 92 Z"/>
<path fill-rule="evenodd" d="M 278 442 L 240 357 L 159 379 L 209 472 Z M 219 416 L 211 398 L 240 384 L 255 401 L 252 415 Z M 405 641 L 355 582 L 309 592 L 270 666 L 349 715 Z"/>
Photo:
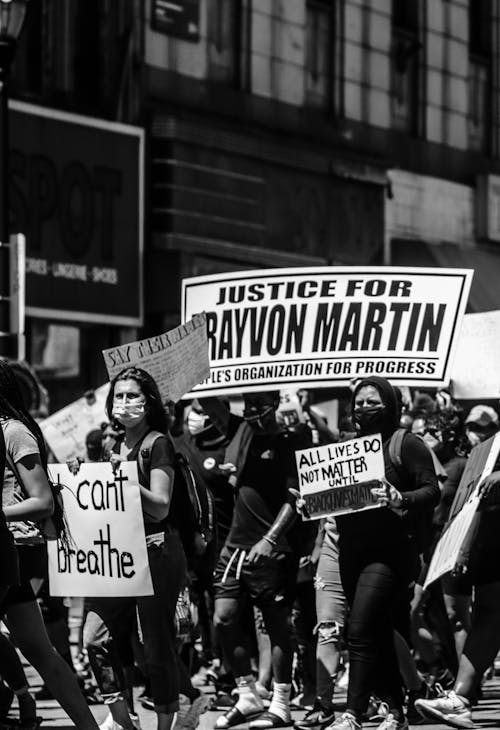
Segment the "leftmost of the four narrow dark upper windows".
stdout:
<path fill-rule="evenodd" d="M 208 72 L 213 81 L 240 85 L 241 0 L 209 0 Z"/>

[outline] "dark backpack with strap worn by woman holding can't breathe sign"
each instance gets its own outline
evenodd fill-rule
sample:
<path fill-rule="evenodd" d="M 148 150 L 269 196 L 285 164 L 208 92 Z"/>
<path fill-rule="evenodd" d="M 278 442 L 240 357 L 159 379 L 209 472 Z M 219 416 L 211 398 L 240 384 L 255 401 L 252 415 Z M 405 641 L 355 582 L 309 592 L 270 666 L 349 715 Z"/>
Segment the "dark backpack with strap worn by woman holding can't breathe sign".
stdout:
<path fill-rule="evenodd" d="M 139 448 L 137 465 L 148 484 L 151 452 L 157 439 L 163 435 L 160 431 L 150 431 Z M 195 555 L 196 534 L 202 535 L 207 544 L 214 537 L 213 502 L 208 490 L 197 482 L 184 454 L 175 449 L 174 452 L 175 476 L 170 511 L 172 524 L 179 531 L 184 552 L 190 561 Z M 178 515 L 181 518 L 175 521 Z"/>

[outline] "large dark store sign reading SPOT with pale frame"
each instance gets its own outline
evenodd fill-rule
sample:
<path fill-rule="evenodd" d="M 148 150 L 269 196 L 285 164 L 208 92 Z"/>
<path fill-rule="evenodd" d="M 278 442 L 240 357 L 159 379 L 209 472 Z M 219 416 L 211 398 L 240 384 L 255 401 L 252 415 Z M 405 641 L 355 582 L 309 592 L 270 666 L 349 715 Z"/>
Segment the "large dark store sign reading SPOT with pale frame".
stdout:
<path fill-rule="evenodd" d="M 19 102 L 10 127 L 26 313 L 142 324 L 143 130 Z"/>

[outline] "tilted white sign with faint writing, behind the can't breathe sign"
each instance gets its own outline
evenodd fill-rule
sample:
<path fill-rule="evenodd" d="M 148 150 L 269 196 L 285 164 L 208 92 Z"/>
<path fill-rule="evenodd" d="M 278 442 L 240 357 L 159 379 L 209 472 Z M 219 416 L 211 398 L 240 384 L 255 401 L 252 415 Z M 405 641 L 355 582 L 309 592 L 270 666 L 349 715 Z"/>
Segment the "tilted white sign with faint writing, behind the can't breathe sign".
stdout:
<path fill-rule="evenodd" d="M 108 391 L 109 385 L 102 385 L 94 391 L 94 398 L 79 398 L 40 423 L 43 436 L 58 461 L 85 458 L 86 435 L 107 420 Z"/>

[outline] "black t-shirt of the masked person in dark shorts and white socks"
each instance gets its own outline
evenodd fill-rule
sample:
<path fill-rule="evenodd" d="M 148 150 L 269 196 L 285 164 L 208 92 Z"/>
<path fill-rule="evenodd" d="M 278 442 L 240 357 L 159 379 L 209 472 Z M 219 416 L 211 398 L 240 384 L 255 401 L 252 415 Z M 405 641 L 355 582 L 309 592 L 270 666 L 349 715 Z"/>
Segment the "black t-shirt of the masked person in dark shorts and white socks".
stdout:
<path fill-rule="evenodd" d="M 229 547 L 249 549 L 255 545 L 283 504 L 294 502 L 288 489 L 298 489 L 295 451 L 310 445 L 303 431 L 253 434 L 239 479 Z M 286 536 L 279 540 L 277 549 L 290 551 Z"/>

